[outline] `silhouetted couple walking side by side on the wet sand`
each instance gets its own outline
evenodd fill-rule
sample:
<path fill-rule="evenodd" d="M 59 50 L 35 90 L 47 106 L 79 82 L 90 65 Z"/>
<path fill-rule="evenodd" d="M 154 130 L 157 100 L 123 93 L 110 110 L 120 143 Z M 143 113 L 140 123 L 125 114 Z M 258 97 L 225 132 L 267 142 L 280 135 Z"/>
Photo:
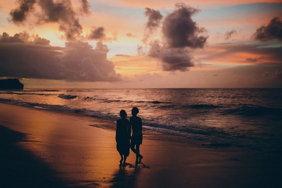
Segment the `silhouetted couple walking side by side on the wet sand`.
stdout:
<path fill-rule="evenodd" d="M 141 163 L 141 159 L 143 158 L 143 156 L 139 152 L 139 147 L 140 144 L 142 144 L 143 140 L 143 134 L 142 120 L 137 116 L 138 113 L 138 108 L 133 107 L 131 110 L 132 117 L 130 117 L 130 119 L 128 120 L 128 116 L 125 110 L 121 110 L 119 112 L 121 119 L 117 120 L 116 142 L 118 153 L 121 156 L 119 162 L 120 164 L 123 163 L 123 166 L 125 165 L 126 158 L 129 155 L 129 149 L 131 149 L 136 154 L 135 166 L 137 166 L 138 163 Z"/>

